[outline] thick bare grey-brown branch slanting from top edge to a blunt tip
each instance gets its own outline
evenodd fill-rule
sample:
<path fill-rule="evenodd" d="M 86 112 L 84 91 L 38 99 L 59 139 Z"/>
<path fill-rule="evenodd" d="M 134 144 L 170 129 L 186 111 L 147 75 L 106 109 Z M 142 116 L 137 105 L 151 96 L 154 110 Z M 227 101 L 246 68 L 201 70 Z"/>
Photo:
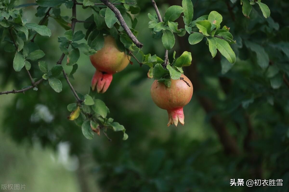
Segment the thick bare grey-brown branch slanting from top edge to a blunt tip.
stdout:
<path fill-rule="evenodd" d="M 101 0 L 101 1 L 114 12 L 116 18 L 121 23 L 121 26 L 123 27 L 123 29 L 125 30 L 125 32 L 129 36 L 129 38 L 132 40 L 132 42 L 134 42 L 134 44 L 138 48 L 142 48 L 143 44 L 138 41 L 138 39 L 134 36 L 134 34 L 129 29 L 129 27 L 127 27 L 127 24 L 125 23 L 125 20 L 123 19 L 123 16 L 121 16 L 121 12 L 119 12 L 119 10 L 112 3 L 110 3 L 108 0 Z"/>

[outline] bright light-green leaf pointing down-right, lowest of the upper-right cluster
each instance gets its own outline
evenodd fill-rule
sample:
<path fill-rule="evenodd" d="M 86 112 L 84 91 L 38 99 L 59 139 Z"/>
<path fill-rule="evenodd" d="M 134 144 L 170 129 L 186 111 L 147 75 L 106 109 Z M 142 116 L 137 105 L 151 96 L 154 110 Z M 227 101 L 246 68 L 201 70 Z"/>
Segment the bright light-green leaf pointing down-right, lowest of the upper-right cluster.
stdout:
<path fill-rule="evenodd" d="M 214 39 L 217 42 L 217 49 L 220 51 L 220 53 L 230 62 L 235 63 L 236 61 L 236 55 L 228 42 L 226 42 L 223 39 L 219 39 L 214 37 Z"/>

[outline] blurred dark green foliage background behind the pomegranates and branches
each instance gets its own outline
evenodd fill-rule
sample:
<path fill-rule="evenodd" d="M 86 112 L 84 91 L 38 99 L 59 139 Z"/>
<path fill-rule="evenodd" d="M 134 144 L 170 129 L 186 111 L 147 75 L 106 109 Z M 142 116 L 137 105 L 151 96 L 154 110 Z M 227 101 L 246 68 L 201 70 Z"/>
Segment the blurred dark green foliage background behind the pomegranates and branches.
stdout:
<path fill-rule="evenodd" d="M 187 35 L 176 36 L 169 59 L 174 50 L 177 56 L 190 51 L 193 58 L 184 72 L 194 87 L 192 100 L 184 107 L 184 126 L 166 126 L 167 112 L 150 97 L 149 67 L 140 67 L 135 60 L 114 75 L 105 94 L 97 96 L 110 109 L 110 117 L 127 129 L 126 141 L 121 133 L 110 130 L 111 142 L 102 132 L 87 140 L 81 128 L 67 120 L 66 106 L 75 98 L 63 77 L 61 93 L 40 84 L 38 91 L 1 95 L 0 184 L 25 184 L 29 192 L 289 191 L 289 2 L 263 0 L 271 10 L 267 19 L 257 5 L 250 19 L 246 18 L 240 1 L 192 2 L 194 20 L 213 10 L 223 16 L 221 27 L 230 27 L 237 41 L 232 45 L 237 59 L 230 64 L 219 53 L 211 59 L 204 40 L 192 46 Z M 164 16 L 169 6 L 181 5 L 181 0 L 156 3 Z M 144 43 L 142 50 L 163 57 L 161 39 L 153 39 L 148 28 L 147 14 L 155 12 L 151 1 L 137 5 L 141 8 L 137 30 Z M 40 20 L 34 16 L 36 6 L 23 12 L 28 22 Z M 62 5 L 61 15 L 70 17 L 71 10 Z M 77 7 L 78 20 L 90 15 Z M 184 28 L 182 18 L 178 22 Z M 61 55 L 57 37 L 65 29 L 53 18 L 48 27 L 52 36 L 37 36 L 35 42 L 51 67 Z M 84 30 L 83 24 L 77 23 L 75 30 Z M 0 91 L 30 85 L 26 71 L 17 73 L 12 67 L 14 53 L 4 48 L 1 42 Z M 274 70 L 257 64 L 266 55 Z M 137 57 L 141 59 L 140 54 Z M 72 67 L 63 63 L 70 73 Z M 71 83 L 77 92 L 86 94 L 95 68 L 84 54 L 77 64 Z M 41 77 L 37 68 L 32 62 L 34 78 Z M 230 186 L 230 179 L 238 178 L 283 179 L 283 186 Z"/>

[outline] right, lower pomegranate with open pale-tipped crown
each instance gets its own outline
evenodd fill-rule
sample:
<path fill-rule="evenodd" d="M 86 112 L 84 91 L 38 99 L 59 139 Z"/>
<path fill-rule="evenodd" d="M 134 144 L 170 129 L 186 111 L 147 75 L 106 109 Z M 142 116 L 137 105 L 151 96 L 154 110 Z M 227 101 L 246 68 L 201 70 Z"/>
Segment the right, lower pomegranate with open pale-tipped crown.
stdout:
<path fill-rule="evenodd" d="M 184 80 L 173 80 L 170 87 L 164 83 L 155 80 L 151 86 L 151 97 L 153 102 L 162 109 L 168 111 L 168 126 L 173 123 L 175 126 L 180 122 L 184 125 L 183 107 L 188 104 L 193 95 L 193 86 L 191 81 L 181 75 Z M 188 84 L 190 85 L 188 86 Z"/>

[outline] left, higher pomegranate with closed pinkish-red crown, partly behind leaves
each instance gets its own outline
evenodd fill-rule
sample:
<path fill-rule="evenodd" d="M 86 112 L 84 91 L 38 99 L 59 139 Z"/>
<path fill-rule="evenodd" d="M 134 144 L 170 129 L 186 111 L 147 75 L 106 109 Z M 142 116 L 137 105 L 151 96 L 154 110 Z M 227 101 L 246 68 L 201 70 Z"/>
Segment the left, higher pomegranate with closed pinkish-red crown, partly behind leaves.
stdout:
<path fill-rule="evenodd" d="M 97 53 L 90 55 L 90 61 L 96 68 L 91 80 L 92 91 L 104 93 L 111 81 L 112 75 L 122 71 L 129 63 L 130 56 L 118 50 L 112 36 L 104 36 L 104 46 Z"/>

